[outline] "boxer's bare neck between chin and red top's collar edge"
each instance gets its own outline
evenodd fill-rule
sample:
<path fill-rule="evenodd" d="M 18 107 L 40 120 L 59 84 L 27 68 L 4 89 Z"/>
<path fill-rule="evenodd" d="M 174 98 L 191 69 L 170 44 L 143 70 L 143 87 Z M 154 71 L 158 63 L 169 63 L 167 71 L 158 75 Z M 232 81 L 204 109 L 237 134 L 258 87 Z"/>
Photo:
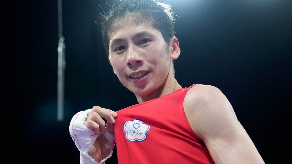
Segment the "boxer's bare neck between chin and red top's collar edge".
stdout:
<path fill-rule="evenodd" d="M 168 74 L 168 76 L 170 76 Z M 178 82 L 175 80 L 174 76 L 171 76 L 172 78 L 168 79 L 169 77 L 167 76 L 166 80 L 164 81 L 164 83 L 162 84 L 162 86 L 160 86 L 160 88 L 158 88 L 156 91 L 150 93 L 149 95 L 137 95 L 135 94 L 139 104 L 142 102 L 146 102 L 149 100 L 153 100 L 165 95 L 168 95 L 170 93 L 173 93 L 179 89 L 181 89 L 182 87 L 178 84 Z"/>

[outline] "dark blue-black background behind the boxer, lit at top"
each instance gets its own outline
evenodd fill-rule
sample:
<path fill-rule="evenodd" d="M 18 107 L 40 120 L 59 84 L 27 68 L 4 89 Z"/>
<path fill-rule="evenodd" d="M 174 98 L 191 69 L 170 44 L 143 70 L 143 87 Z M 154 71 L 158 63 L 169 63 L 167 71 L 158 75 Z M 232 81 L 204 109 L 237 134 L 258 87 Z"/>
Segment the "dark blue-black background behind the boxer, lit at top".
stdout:
<path fill-rule="evenodd" d="M 292 1 L 168 2 L 178 15 L 178 82 L 183 87 L 203 83 L 222 90 L 265 162 L 285 163 L 289 158 L 285 149 L 291 143 Z M 72 116 L 94 105 L 119 110 L 137 103 L 113 74 L 94 23 L 107 4 L 62 1 L 67 64 L 63 121 L 57 121 L 57 0 L 8 5 L 12 8 L 7 10 L 3 40 L 11 59 L 4 60 L 9 79 L 4 90 L 9 89 L 8 111 L 13 116 L 8 123 L 14 123 L 9 143 L 13 161 L 79 163 L 79 151 L 69 135 Z M 114 153 L 107 163 L 117 163 L 116 158 Z"/>

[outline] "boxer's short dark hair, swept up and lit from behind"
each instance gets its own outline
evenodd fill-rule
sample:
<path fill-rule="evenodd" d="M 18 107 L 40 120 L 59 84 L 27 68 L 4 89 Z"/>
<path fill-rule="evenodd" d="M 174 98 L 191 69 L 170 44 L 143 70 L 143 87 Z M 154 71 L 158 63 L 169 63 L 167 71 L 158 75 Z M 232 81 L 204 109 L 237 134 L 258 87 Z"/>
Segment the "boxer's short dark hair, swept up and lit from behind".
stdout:
<path fill-rule="evenodd" d="M 132 14 L 132 20 L 138 24 L 149 22 L 154 29 L 161 32 L 164 41 L 169 46 L 170 40 L 174 36 L 175 20 L 169 4 L 155 0 L 120 0 L 98 21 L 101 25 L 102 41 L 108 60 L 109 34 L 114 23 L 129 14 Z"/>

